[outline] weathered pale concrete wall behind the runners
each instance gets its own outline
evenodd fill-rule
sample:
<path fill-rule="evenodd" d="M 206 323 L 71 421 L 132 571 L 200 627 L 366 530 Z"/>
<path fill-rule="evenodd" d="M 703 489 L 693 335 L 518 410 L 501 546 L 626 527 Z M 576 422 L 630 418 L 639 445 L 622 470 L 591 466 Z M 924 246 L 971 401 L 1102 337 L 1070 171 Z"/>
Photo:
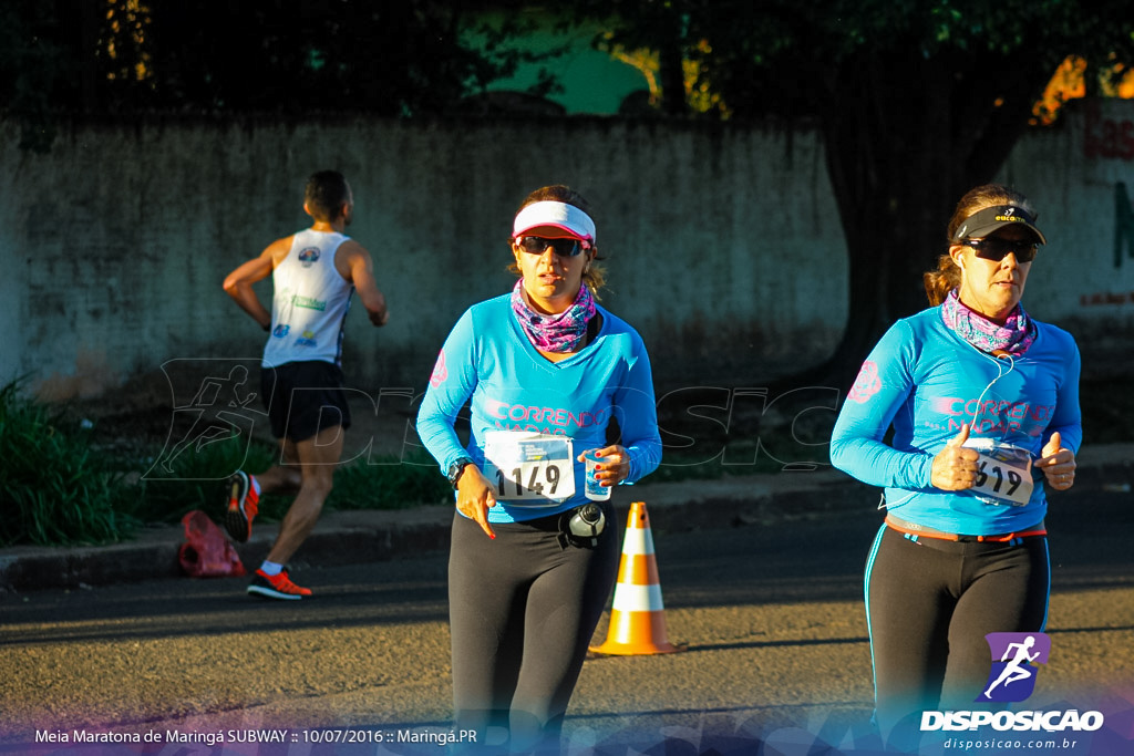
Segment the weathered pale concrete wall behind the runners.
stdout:
<path fill-rule="evenodd" d="M 1129 101 L 1080 109 L 1026 137 L 1001 176 L 1035 201 L 1050 240 L 1025 304 L 1081 342 L 1128 347 L 1134 333 L 1134 257 L 1115 255 L 1132 119 Z M 0 122 L 5 382 L 90 393 L 172 359 L 256 359 L 263 333 L 220 282 L 306 226 L 304 179 L 321 168 L 352 181 L 350 232 L 390 303 L 384 329 L 348 318 L 348 379 L 364 390 L 424 387 L 460 312 L 509 288 L 511 216 L 550 182 L 595 205 L 603 301 L 642 332 L 660 383 L 760 385 L 828 356 L 847 318 L 843 235 L 810 131 L 168 119 L 76 127 L 48 155 L 17 143 Z"/>

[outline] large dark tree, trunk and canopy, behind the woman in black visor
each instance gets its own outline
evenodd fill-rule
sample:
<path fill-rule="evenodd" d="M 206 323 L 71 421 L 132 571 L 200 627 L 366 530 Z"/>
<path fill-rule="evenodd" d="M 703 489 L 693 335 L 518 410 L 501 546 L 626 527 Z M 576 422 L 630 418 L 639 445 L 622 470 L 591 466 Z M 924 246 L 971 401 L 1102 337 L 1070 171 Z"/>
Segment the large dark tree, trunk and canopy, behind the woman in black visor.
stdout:
<path fill-rule="evenodd" d="M 577 0 L 599 44 L 685 67 L 661 110 L 784 119 L 822 136 L 855 313 L 815 373 L 835 385 L 898 317 L 925 305 L 957 198 L 993 179 L 1058 66 L 1134 62 L 1127 0 Z M 676 104 L 675 104 L 676 103 Z M 879 274 L 879 272 L 882 274 Z"/>

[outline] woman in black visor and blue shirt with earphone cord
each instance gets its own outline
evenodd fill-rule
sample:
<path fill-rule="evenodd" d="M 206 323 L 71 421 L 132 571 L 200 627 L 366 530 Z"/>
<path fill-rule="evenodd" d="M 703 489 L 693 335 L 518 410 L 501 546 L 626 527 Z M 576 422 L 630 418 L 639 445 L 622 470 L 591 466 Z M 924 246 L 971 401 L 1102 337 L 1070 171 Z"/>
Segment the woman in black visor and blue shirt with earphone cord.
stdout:
<path fill-rule="evenodd" d="M 916 731 L 921 711 L 975 706 L 985 634 L 1043 629 L 1044 483 L 1074 484 L 1083 436 L 1078 348 L 1021 306 L 1046 244 L 1027 199 L 971 190 L 948 243 L 925 274 L 934 306 L 882 337 L 831 438 L 836 467 L 885 489 L 865 586 L 883 737 L 903 720 Z"/>

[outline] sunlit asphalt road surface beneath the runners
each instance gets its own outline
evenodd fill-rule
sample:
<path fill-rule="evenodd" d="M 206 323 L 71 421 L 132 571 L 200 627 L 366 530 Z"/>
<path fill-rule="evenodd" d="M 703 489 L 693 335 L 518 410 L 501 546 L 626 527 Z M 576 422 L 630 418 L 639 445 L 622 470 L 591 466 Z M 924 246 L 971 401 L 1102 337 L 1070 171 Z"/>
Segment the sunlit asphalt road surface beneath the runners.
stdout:
<path fill-rule="evenodd" d="M 688 649 L 589 660 L 569 746 L 727 753 L 763 740 L 796 753 L 814 733 L 857 737 L 872 695 L 861 583 L 873 496 L 861 516 L 721 529 L 651 512 L 669 639 Z M 1131 499 L 1098 484 L 1052 496 L 1053 653 L 1030 705 L 1134 689 Z M 37 731 L 231 746 L 280 729 L 288 753 L 310 753 L 333 727 L 361 732 L 359 753 L 439 753 L 397 738 L 450 731 L 446 555 L 293 577 L 318 597 L 254 600 L 243 578 L 0 595 L 0 750 Z"/>

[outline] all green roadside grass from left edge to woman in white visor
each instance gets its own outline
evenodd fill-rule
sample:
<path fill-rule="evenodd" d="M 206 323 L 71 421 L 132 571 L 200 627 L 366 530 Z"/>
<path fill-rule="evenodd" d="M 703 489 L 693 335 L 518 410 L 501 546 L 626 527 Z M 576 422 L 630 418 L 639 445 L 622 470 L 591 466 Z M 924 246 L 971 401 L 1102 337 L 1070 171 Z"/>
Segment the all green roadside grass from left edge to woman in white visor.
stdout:
<path fill-rule="evenodd" d="M 20 383 L 0 389 L 0 547 L 65 546 L 128 540 L 142 523 L 175 524 L 200 509 L 223 512 L 225 482 L 236 469 L 263 470 L 274 444 L 239 436 L 178 455 L 170 469 L 149 460 L 99 452 L 92 431 L 52 408 L 22 397 Z M 372 459 L 336 473 L 327 509 L 405 509 L 441 503 L 452 494 L 432 460 Z M 265 495 L 257 521 L 278 521 L 289 495 Z"/>

